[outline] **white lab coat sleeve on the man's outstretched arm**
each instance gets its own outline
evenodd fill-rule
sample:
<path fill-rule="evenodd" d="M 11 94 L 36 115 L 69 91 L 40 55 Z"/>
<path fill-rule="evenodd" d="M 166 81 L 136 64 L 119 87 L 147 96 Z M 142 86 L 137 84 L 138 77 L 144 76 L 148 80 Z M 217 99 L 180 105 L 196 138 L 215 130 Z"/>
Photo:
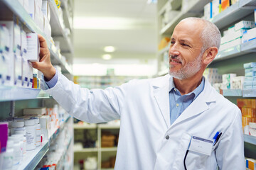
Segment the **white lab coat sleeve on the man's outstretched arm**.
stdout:
<path fill-rule="evenodd" d="M 58 74 L 57 84 L 53 88 L 41 88 L 75 118 L 87 123 L 102 123 L 120 118 L 125 98 L 124 86 L 89 90 Z"/>

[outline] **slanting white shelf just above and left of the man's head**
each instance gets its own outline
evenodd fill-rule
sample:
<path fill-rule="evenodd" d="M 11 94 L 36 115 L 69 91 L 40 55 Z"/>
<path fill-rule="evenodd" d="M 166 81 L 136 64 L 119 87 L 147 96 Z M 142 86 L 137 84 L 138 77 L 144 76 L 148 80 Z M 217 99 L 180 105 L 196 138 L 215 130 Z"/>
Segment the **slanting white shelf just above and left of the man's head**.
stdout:
<path fill-rule="evenodd" d="M 166 24 L 166 26 L 164 26 L 164 28 L 160 30 L 160 34 L 171 34 L 174 31 L 176 24 L 184 18 L 187 18 L 189 16 L 200 16 L 201 13 L 203 12 L 203 7 L 207 3 L 208 1 L 205 0 L 193 1 L 193 3 L 191 3 L 190 8 L 188 8 L 186 11 L 181 11 L 173 20 L 171 20 L 171 22 Z"/>

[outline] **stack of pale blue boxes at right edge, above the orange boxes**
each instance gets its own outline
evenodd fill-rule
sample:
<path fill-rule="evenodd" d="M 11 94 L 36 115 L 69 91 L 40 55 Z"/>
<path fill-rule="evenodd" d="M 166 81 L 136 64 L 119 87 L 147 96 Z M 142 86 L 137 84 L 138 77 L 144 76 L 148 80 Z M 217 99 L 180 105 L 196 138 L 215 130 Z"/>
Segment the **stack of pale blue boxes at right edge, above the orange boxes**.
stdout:
<path fill-rule="evenodd" d="M 245 83 L 243 89 L 256 89 L 256 62 L 245 63 Z"/>

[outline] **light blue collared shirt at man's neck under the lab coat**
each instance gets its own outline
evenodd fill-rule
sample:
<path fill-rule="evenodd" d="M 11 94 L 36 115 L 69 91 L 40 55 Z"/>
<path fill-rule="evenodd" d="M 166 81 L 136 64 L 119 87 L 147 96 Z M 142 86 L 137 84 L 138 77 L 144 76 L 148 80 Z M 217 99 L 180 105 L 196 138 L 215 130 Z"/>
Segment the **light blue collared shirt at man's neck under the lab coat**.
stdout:
<path fill-rule="evenodd" d="M 184 94 L 181 96 L 181 93 L 176 89 L 174 85 L 174 81 L 170 84 L 170 91 L 169 91 L 169 101 L 170 101 L 170 120 L 171 125 L 174 121 L 178 118 L 183 111 L 196 99 L 196 97 L 201 94 L 203 91 L 205 84 L 205 79 L 203 77 L 201 84 L 189 94 Z"/>

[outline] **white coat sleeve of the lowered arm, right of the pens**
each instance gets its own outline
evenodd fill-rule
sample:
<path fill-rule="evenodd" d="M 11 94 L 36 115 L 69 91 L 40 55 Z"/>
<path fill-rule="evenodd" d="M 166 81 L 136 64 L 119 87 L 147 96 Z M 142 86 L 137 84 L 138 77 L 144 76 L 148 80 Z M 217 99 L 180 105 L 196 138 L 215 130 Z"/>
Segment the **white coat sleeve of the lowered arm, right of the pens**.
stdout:
<path fill-rule="evenodd" d="M 244 139 L 242 132 L 242 114 L 234 112 L 235 119 L 220 137 L 216 147 L 216 159 L 220 169 L 245 169 Z"/>

